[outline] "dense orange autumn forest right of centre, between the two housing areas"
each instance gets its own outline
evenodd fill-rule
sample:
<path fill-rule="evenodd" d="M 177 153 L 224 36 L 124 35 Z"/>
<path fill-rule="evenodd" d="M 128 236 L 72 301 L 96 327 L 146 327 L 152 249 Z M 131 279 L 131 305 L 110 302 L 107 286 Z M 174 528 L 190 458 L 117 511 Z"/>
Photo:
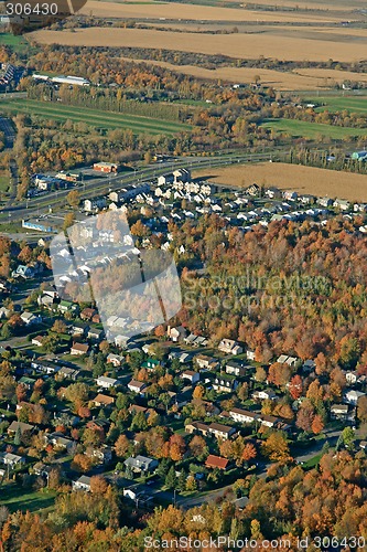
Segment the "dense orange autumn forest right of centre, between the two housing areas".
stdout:
<path fill-rule="evenodd" d="M 206 266 L 199 277 L 183 269 L 182 321 L 248 343 L 260 362 L 287 352 L 325 357 L 330 369 L 366 364 L 367 240 L 358 222 L 273 222 L 245 235 L 216 216 L 171 224 L 173 246 L 186 251 L 180 263 Z"/>

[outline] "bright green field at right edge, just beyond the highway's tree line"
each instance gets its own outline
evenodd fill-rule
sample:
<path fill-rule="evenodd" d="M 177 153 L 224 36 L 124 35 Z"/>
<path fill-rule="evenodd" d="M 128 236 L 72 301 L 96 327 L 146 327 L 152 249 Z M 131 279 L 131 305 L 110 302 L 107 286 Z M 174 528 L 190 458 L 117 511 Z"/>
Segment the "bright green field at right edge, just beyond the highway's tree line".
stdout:
<path fill-rule="evenodd" d="M 367 128 L 334 127 L 331 125 L 293 119 L 269 119 L 262 123 L 262 126 L 278 134 L 288 134 L 294 138 L 314 139 L 319 136 L 326 136 L 328 138 L 342 140 L 347 137 L 367 136 Z"/>

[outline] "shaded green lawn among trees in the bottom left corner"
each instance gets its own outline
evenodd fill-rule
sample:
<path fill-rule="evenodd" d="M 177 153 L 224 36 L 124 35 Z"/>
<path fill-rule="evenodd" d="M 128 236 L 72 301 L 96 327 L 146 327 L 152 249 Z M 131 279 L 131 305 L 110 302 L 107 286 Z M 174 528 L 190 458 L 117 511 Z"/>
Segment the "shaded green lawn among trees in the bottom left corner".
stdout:
<path fill-rule="evenodd" d="M 54 505 L 56 492 L 52 490 L 26 490 L 14 482 L 7 482 L 0 487 L 0 505 L 9 508 L 11 512 L 39 511 Z"/>

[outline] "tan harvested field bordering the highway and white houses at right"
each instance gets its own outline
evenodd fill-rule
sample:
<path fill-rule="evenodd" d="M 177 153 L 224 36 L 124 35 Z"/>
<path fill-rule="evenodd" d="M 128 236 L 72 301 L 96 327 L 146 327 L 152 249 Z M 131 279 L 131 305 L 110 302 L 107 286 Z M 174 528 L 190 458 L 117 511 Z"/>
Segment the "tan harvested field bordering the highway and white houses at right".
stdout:
<path fill-rule="evenodd" d="M 328 195 L 349 201 L 367 201 L 367 176 L 339 172 L 314 167 L 288 163 L 258 163 L 212 169 L 211 182 L 248 187 L 274 185 L 281 190 L 292 189 L 299 193 Z M 208 176 L 208 171 L 195 171 L 194 177 Z"/>

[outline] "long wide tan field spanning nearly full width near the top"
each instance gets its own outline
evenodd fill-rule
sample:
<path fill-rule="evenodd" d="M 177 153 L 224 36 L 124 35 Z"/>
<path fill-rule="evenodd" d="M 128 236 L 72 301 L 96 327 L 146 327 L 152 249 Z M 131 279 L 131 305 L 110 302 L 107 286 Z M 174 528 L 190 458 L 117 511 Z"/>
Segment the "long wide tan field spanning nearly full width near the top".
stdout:
<path fill-rule="evenodd" d="M 364 45 L 367 46 L 367 35 L 357 42 L 341 42 L 327 40 L 307 40 L 296 32 L 292 36 L 281 34 L 228 34 L 205 36 L 198 33 L 175 33 L 147 29 L 105 29 L 89 28 L 72 31 L 36 31 L 33 39 L 41 44 L 64 44 L 76 46 L 129 46 L 151 47 L 162 50 L 179 50 L 217 54 L 240 59 L 277 57 L 292 61 L 358 61 L 364 57 Z"/>

